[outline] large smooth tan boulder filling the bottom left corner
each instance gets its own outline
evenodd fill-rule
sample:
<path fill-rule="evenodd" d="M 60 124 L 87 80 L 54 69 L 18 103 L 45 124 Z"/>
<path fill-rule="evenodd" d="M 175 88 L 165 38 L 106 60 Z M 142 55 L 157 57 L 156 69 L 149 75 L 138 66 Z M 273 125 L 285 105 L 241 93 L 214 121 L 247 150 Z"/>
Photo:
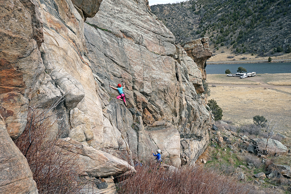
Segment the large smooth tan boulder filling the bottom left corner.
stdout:
<path fill-rule="evenodd" d="M 9 137 L 1 115 L 0 146 L 0 193 L 37 194 L 27 160 Z"/>

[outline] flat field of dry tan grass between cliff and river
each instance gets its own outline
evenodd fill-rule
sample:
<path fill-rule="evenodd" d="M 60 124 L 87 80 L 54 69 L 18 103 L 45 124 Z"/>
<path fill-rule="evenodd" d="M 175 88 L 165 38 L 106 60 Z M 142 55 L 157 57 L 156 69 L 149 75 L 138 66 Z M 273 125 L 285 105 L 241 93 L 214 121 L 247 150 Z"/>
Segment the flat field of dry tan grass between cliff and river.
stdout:
<path fill-rule="evenodd" d="M 216 100 L 222 108 L 222 120 L 243 125 L 253 123 L 253 116 L 261 115 L 272 120 L 278 131 L 283 130 L 281 134 L 291 137 L 291 86 L 286 86 L 291 85 L 291 74 L 260 74 L 246 79 L 209 74 L 206 81 L 211 91 L 208 99 Z M 222 85 L 212 87 L 215 84 Z"/>

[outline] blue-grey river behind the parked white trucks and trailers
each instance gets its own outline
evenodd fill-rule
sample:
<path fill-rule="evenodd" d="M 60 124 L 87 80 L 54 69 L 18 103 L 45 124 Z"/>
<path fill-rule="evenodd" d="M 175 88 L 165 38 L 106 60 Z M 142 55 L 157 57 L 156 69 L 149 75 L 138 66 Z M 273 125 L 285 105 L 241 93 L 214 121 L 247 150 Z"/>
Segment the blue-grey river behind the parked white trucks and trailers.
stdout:
<path fill-rule="evenodd" d="M 247 72 L 264 73 L 291 73 L 291 63 L 240 63 L 240 64 L 207 64 L 206 74 L 225 74 L 229 69 L 231 73 L 237 73 L 237 68 L 243 67 Z"/>

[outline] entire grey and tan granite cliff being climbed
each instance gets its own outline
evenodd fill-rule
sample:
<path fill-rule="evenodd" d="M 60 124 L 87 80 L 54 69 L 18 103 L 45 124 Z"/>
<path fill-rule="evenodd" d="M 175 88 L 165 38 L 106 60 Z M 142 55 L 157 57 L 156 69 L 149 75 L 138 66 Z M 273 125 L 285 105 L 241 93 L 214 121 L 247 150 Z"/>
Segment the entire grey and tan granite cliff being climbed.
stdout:
<path fill-rule="evenodd" d="M 202 94 L 211 56 L 207 37 L 175 45 L 147 0 L 13 0 L 1 2 L 0 17 L 1 134 L 17 139 L 28 109 L 42 108 L 54 123 L 52 136 L 62 131 L 68 146 L 80 142 L 84 150 L 96 150 L 88 153 L 106 155 L 112 173 L 94 167 L 88 175 L 134 171 L 134 160 L 158 148 L 173 166 L 195 165 L 213 122 Z M 121 82 L 128 107 L 109 88 Z M 8 134 L 1 136 L 2 151 L 13 147 Z M 129 165 L 100 149 L 127 152 Z M 27 166 L 15 153 L 1 154 L 1 161 L 12 159 L 1 169 L 13 162 Z M 87 162 L 87 169 L 98 166 Z M 37 193 L 25 169 L 18 181 L 30 186 L 23 193 Z M 17 181 L 2 183 L 0 191 L 7 193 Z"/>

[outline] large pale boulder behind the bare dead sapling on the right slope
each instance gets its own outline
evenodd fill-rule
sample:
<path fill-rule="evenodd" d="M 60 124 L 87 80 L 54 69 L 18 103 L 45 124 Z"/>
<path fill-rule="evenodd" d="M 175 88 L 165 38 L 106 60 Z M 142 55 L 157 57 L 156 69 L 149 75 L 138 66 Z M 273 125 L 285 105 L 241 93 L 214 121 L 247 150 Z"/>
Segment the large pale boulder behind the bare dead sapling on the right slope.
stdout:
<path fill-rule="evenodd" d="M 253 141 L 260 149 L 263 150 L 266 148 L 267 139 L 255 138 Z M 274 139 L 269 139 L 267 150 L 269 151 L 269 154 L 286 154 L 288 152 L 288 148 L 285 145 Z"/>

